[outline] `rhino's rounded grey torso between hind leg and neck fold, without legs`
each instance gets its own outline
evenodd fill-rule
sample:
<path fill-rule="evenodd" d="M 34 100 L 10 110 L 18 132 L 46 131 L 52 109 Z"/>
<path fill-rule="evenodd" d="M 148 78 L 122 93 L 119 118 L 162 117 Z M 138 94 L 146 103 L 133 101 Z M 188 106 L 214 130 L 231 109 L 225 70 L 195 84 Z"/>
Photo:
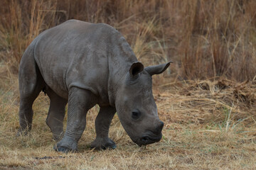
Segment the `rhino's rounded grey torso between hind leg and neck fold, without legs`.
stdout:
<path fill-rule="evenodd" d="M 120 33 L 106 24 L 67 21 L 36 38 L 35 60 L 46 84 L 68 98 L 72 86 L 108 101 L 108 55 Z"/>

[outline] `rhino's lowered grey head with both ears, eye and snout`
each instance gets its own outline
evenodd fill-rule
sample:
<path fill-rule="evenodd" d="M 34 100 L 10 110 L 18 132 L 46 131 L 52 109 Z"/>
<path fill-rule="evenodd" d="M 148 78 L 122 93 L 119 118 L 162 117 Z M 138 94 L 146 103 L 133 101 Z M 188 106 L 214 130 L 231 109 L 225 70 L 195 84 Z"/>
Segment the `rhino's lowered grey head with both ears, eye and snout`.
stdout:
<path fill-rule="evenodd" d="M 132 141 L 139 146 L 161 140 L 164 123 L 157 113 L 151 77 L 164 72 L 170 63 L 144 68 L 141 62 L 134 62 L 117 91 L 115 105 L 119 120 Z"/>

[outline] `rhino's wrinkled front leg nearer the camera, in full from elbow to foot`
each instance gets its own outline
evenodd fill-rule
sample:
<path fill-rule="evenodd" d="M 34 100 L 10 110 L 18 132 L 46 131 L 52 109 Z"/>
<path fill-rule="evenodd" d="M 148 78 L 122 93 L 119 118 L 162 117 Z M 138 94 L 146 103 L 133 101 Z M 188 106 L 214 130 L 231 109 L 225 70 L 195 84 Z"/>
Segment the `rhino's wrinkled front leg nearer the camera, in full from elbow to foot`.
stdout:
<path fill-rule="evenodd" d="M 78 140 L 85 130 L 87 111 L 95 106 L 97 97 L 85 89 L 73 87 L 68 94 L 68 123 L 64 137 L 55 150 L 70 152 L 78 150 Z"/>

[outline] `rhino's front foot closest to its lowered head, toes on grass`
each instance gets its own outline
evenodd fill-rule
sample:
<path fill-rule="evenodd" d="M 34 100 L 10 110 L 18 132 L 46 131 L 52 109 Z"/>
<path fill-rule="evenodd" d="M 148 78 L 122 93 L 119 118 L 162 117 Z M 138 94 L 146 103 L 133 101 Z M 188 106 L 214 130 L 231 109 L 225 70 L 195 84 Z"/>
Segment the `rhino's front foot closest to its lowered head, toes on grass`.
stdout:
<path fill-rule="evenodd" d="M 91 148 L 95 149 L 115 149 L 117 146 L 114 141 L 110 140 L 110 138 L 96 138 L 95 141 L 92 142 Z"/>

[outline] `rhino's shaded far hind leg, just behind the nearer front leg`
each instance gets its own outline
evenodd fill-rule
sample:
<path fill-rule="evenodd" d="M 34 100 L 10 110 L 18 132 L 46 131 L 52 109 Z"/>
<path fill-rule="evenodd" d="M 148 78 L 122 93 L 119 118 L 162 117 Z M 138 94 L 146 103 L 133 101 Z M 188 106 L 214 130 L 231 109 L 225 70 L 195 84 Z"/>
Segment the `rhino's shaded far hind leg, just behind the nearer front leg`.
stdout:
<path fill-rule="evenodd" d="M 48 86 L 46 86 L 45 91 L 50 98 L 50 108 L 46 124 L 51 132 L 53 132 L 53 140 L 59 141 L 63 137 L 63 119 L 65 117 L 65 106 L 68 101 L 55 94 Z"/>

